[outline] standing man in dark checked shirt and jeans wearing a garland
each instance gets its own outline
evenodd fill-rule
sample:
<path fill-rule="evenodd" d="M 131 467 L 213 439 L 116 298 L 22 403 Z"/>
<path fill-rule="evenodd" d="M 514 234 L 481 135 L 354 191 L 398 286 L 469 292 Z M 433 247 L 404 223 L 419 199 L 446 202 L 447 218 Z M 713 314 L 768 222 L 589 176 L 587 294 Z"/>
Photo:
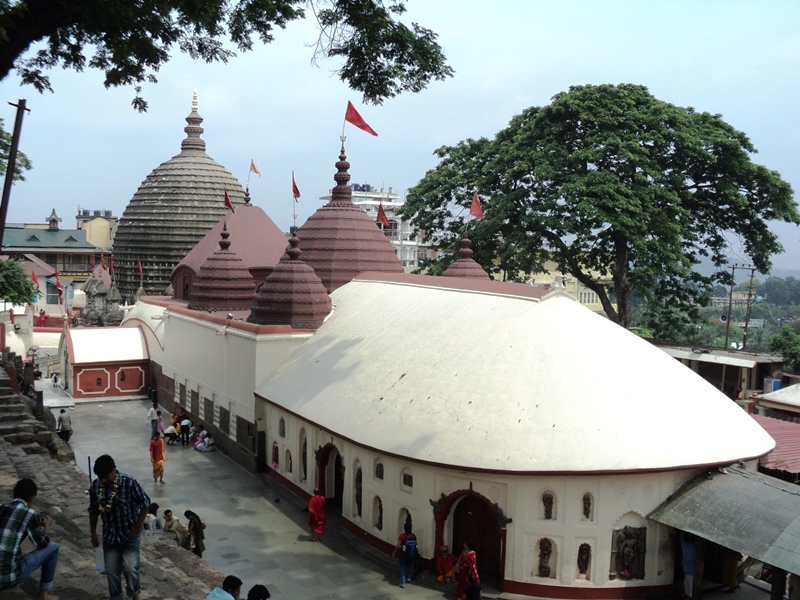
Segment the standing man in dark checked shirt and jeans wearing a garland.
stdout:
<path fill-rule="evenodd" d="M 92 546 L 100 546 L 98 517 L 103 521 L 103 558 L 108 579 L 108 596 L 141 600 L 139 544 L 142 525 L 150 508 L 150 497 L 130 475 L 120 473 L 114 459 L 104 454 L 94 461 L 97 479 L 89 488 L 89 533 Z M 122 575 L 125 587 L 122 589 Z"/>

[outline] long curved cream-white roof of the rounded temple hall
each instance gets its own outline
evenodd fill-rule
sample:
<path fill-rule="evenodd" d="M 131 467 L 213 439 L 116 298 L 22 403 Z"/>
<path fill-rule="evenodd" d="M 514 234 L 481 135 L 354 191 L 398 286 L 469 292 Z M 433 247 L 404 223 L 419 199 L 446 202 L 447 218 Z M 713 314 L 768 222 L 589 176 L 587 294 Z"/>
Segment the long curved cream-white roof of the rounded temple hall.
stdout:
<path fill-rule="evenodd" d="M 358 444 L 467 469 L 666 470 L 774 447 L 712 385 L 570 297 L 367 277 L 332 294 L 259 396 Z"/>

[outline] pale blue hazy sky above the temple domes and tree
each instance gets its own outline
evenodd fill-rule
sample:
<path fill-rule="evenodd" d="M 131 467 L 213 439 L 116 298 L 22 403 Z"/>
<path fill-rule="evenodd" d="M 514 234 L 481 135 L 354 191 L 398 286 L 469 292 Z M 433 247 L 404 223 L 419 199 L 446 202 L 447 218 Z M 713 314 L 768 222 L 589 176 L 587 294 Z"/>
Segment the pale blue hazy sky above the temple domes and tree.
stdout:
<path fill-rule="evenodd" d="M 347 127 L 351 182 L 401 196 L 436 165 L 433 151 L 493 136 L 524 108 L 549 103 L 571 85 L 636 83 L 657 98 L 719 113 L 748 134 L 758 163 L 800 192 L 800 2 L 408 0 L 407 22 L 439 34 L 455 77 L 382 106 L 335 76 L 336 63 L 310 64 L 313 20 L 292 23 L 269 46 L 227 65 L 180 54 L 146 85 L 147 113 L 133 91 L 105 90 L 98 72 L 51 72 L 54 94 L 0 84 L 6 101 L 27 99 L 20 148 L 33 161 L 11 196 L 9 222 L 43 222 L 55 208 L 64 227 L 78 207 L 121 216 L 159 164 L 180 152 L 197 88 L 206 151 L 244 185 L 250 159 L 254 204 L 287 230 L 291 171 L 302 193 L 298 225 L 334 185 L 344 112 L 352 100 L 379 133 Z M 0 118 L 13 127 L 6 102 Z M 222 201 L 222 200 L 220 200 Z M 786 253 L 777 269 L 800 264 L 800 230 L 776 225 Z M 734 262 L 744 259 L 733 256 Z"/>

